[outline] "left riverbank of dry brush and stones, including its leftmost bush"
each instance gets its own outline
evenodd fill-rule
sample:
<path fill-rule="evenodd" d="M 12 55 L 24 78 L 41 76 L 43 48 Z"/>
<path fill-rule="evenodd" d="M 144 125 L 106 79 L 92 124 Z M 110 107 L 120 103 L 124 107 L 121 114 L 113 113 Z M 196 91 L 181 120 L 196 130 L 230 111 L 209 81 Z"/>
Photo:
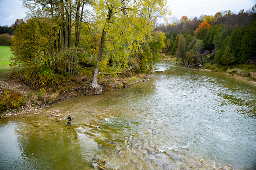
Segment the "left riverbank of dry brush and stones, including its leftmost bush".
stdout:
<path fill-rule="evenodd" d="M 83 87 L 86 84 L 89 84 L 92 80 L 91 76 L 88 75 L 77 75 L 73 77 L 68 77 L 65 79 L 67 82 L 66 85 L 62 85 L 58 87 L 58 89 L 49 88 L 37 88 L 33 89 L 33 87 L 29 83 L 21 83 L 21 81 L 17 78 L 11 78 L 12 72 L 2 72 L 0 74 L 0 95 L 2 96 L 0 101 L 1 104 L 10 105 L 10 108 L 3 111 L 1 113 L 1 118 L 8 118 L 12 116 L 17 116 L 20 114 L 29 114 L 29 113 L 37 113 L 38 110 L 44 108 L 46 106 L 55 104 L 60 100 L 65 100 L 68 98 L 73 98 L 76 96 L 81 96 L 83 94 Z M 98 84 L 102 86 L 103 92 L 111 91 L 115 89 L 127 88 L 132 84 L 146 81 L 146 76 L 148 74 L 126 74 L 119 75 L 117 77 L 112 77 L 109 75 L 101 74 L 99 75 Z M 15 92 L 19 94 L 21 101 L 20 105 L 14 105 L 14 101 L 16 102 L 17 98 L 12 93 Z M 9 95 L 8 97 L 6 97 Z M 9 107 L 9 106 L 7 106 Z"/>

